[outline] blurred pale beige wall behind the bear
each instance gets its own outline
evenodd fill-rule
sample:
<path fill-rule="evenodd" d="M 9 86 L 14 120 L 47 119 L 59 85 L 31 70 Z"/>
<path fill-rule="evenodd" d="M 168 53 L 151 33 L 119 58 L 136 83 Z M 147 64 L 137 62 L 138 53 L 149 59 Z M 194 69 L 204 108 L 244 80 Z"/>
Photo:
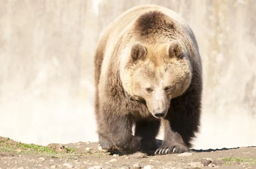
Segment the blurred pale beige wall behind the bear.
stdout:
<path fill-rule="evenodd" d="M 256 145 L 255 0 L 0 0 L 0 136 L 43 145 L 98 141 L 99 33 L 146 3 L 176 11 L 198 40 L 204 96 L 194 148 Z"/>

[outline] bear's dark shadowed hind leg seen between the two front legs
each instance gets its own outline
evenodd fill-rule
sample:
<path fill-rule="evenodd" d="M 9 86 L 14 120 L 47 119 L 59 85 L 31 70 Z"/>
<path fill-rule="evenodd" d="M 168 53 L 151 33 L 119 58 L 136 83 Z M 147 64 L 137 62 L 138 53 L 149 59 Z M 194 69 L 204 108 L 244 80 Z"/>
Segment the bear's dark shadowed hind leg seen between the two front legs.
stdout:
<path fill-rule="evenodd" d="M 157 149 L 156 136 L 160 129 L 160 120 L 157 118 L 141 119 L 136 122 L 135 136 L 141 139 L 141 152 L 152 154 Z"/>

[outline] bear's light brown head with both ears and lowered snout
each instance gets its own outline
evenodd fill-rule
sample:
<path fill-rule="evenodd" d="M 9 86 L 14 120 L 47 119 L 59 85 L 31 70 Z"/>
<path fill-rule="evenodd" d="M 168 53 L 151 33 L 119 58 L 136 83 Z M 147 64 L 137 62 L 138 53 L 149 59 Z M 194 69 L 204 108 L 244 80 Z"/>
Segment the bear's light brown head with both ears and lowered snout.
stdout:
<path fill-rule="evenodd" d="M 178 40 L 161 45 L 134 42 L 121 56 L 120 78 L 133 99 L 144 100 L 156 118 L 165 117 L 171 99 L 189 87 L 192 66 Z"/>

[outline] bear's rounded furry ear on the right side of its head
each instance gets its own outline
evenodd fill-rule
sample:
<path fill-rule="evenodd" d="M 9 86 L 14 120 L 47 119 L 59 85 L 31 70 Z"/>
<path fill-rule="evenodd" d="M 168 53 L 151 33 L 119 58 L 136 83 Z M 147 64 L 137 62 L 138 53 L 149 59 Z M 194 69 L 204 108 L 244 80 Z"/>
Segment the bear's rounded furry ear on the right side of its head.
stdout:
<path fill-rule="evenodd" d="M 168 48 L 167 52 L 170 58 L 177 58 L 180 59 L 182 57 L 182 46 L 179 41 L 173 40 Z"/>

